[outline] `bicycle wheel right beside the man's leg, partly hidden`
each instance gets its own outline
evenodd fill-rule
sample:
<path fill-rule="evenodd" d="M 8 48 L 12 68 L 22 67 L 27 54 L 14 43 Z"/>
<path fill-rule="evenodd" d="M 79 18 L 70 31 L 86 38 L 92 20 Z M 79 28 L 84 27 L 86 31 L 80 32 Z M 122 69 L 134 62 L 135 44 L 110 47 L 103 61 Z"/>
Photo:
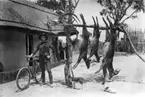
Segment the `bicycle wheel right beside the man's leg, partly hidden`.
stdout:
<path fill-rule="evenodd" d="M 41 70 L 40 70 L 39 64 L 37 64 L 35 66 L 34 74 L 35 74 L 35 81 L 36 81 L 36 83 L 40 83 L 40 81 L 41 81 Z"/>

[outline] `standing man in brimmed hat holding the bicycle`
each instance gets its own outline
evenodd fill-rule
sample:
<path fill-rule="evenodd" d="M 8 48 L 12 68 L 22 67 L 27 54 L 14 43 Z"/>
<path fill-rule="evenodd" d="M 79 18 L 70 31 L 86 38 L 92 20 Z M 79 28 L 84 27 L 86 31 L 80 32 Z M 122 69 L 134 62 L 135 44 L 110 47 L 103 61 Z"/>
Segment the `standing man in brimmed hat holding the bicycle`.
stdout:
<path fill-rule="evenodd" d="M 50 55 L 50 49 L 54 50 L 52 45 L 47 42 L 48 36 L 45 35 L 44 33 L 39 36 L 39 40 L 41 41 L 36 50 L 31 55 L 28 55 L 29 58 L 32 58 L 38 51 L 39 51 L 39 64 L 41 68 L 41 79 L 42 79 L 42 84 L 45 84 L 45 66 L 47 66 L 47 72 L 49 75 L 49 82 L 50 84 L 53 83 L 53 76 L 51 72 L 51 64 L 50 64 L 50 58 L 52 54 Z"/>

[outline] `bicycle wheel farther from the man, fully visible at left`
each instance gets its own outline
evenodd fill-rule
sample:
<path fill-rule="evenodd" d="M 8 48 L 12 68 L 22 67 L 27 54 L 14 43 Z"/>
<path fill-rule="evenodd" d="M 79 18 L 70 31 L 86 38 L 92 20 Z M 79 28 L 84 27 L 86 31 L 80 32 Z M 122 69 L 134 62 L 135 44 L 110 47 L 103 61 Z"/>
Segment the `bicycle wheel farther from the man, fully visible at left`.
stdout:
<path fill-rule="evenodd" d="M 24 90 L 29 87 L 30 71 L 27 67 L 23 67 L 19 70 L 16 77 L 16 84 L 20 90 Z"/>

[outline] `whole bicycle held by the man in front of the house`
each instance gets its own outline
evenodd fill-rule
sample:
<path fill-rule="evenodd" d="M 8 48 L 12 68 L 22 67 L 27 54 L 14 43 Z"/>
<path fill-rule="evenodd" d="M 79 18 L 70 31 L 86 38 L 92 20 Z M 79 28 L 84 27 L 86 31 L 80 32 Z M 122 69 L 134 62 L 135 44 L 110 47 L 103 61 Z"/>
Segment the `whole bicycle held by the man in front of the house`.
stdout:
<path fill-rule="evenodd" d="M 29 65 L 32 62 L 32 66 Z M 30 80 L 35 79 L 36 83 L 41 80 L 40 66 L 38 56 L 33 57 L 26 64 L 26 67 L 22 67 L 16 77 L 16 84 L 20 90 L 27 89 L 30 85 Z"/>

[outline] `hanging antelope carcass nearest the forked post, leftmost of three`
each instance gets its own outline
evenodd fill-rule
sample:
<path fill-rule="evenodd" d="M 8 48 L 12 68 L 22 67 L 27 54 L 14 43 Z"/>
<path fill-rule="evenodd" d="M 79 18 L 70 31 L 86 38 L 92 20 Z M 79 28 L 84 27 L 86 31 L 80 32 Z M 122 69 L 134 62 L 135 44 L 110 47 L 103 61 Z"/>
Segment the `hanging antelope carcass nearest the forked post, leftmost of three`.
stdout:
<path fill-rule="evenodd" d="M 75 69 L 78 64 L 80 63 L 80 61 L 82 59 L 84 59 L 85 64 L 87 66 L 87 68 L 89 69 L 90 67 L 90 60 L 87 59 L 87 53 L 88 53 L 88 45 L 89 45 L 89 37 L 90 37 L 90 32 L 87 30 L 86 27 L 86 21 L 84 19 L 83 14 L 80 14 L 80 17 L 83 21 L 83 29 L 82 29 L 82 43 L 80 45 L 80 49 L 79 49 L 79 58 L 77 60 L 77 63 L 73 66 L 73 69 Z"/>

